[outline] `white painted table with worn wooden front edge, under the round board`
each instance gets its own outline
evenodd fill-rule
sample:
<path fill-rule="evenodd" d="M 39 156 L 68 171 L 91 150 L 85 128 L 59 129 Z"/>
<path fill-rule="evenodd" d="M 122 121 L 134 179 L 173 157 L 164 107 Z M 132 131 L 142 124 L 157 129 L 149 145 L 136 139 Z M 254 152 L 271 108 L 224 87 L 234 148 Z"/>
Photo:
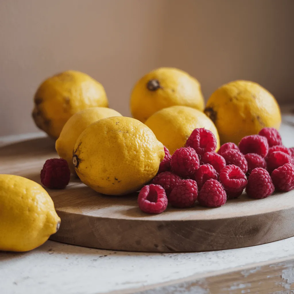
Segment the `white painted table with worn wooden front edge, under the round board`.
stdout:
<path fill-rule="evenodd" d="M 292 147 L 293 116 L 283 121 L 283 142 Z M 44 134 L 2 137 L 0 145 L 36 136 Z M 294 293 L 294 237 L 198 253 L 119 252 L 47 241 L 31 252 L 0 253 L 0 293 Z"/>

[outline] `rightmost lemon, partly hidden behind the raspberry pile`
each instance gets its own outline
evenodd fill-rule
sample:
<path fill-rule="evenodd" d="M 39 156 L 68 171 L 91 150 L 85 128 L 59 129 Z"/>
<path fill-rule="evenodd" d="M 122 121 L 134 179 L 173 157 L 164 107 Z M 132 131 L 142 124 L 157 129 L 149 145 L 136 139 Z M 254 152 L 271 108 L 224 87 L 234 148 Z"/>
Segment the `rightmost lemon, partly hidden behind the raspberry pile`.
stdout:
<path fill-rule="evenodd" d="M 218 88 L 208 99 L 205 113 L 215 123 L 222 144 L 238 144 L 244 136 L 258 134 L 264 127 L 279 129 L 281 124 L 274 96 L 250 81 L 233 81 Z"/>

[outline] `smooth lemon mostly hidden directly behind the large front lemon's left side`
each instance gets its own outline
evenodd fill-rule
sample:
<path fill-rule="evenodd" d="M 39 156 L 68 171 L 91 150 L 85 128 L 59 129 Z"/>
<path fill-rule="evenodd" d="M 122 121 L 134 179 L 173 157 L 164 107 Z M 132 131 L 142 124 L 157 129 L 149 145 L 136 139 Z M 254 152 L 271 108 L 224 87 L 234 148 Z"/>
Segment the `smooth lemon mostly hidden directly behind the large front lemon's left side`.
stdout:
<path fill-rule="evenodd" d="M 67 161 L 72 173 L 76 173 L 73 165 L 73 151 L 78 136 L 91 123 L 110 116 L 121 116 L 121 114 L 107 107 L 91 107 L 75 113 L 65 123 L 56 140 L 55 148 L 58 155 Z"/>

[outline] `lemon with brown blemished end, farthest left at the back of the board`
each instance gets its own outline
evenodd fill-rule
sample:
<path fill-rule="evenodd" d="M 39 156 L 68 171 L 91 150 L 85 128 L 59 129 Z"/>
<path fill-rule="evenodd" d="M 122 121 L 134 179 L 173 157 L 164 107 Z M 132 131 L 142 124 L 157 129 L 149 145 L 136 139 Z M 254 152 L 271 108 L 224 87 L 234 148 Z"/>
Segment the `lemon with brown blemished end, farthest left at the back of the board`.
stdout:
<path fill-rule="evenodd" d="M 103 86 L 87 74 L 65 71 L 46 79 L 34 97 L 36 125 L 57 139 L 68 119 L 89 107 L 108 107 Z"/>

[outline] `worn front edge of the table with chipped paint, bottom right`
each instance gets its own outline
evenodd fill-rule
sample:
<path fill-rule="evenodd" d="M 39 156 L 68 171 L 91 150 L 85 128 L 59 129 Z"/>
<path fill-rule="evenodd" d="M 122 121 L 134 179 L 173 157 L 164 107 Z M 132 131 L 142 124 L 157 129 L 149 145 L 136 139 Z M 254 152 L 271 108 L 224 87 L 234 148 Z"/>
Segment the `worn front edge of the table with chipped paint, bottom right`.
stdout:
<path fill-rule="evenodd" d="M 293 294 L 294 255 L 107 294 Z M 98 294 L 98 293 L 97 293 Z"/>

